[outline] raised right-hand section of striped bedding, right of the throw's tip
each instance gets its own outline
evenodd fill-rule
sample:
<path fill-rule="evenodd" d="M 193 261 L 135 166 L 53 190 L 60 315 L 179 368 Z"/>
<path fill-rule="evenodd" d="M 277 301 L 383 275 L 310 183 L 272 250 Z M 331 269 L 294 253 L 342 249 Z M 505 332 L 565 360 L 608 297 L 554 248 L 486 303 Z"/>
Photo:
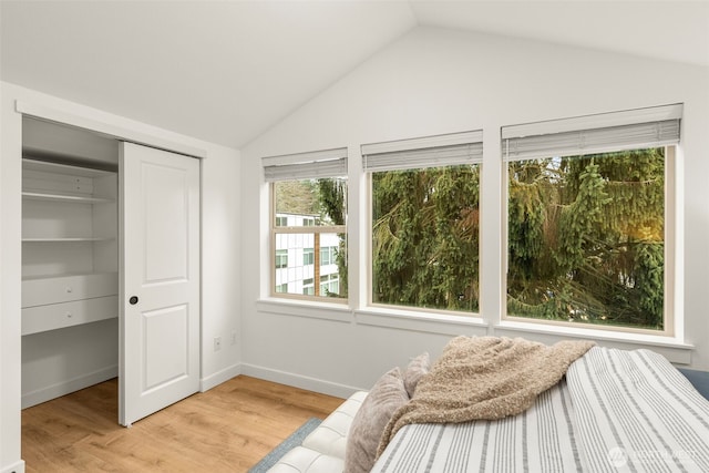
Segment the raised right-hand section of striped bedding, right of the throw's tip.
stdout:
<path fill-rule="evenodd" d="M 662 356 L 594 348 L 566 380 L 587 471 L 709 472 L 709 401 Z"/>

